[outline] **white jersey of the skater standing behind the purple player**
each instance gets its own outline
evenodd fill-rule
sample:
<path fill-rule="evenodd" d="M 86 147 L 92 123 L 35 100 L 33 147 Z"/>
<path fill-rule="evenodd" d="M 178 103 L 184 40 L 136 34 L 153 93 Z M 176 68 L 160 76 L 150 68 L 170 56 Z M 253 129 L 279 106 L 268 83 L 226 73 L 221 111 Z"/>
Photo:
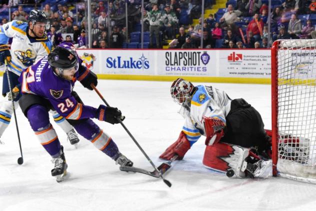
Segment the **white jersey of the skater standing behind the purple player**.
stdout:
<path fill-rule="evenodd" d="M 27 34 L 27 30 L 28 24 L 20 20 L 0 26 L 0 44 L 7 44 L 9 37 L 12 37 L 8 69 L 17 75 L 47 55 L 52 47 L 46 34 L 42 38 L 33 38 Z"/>

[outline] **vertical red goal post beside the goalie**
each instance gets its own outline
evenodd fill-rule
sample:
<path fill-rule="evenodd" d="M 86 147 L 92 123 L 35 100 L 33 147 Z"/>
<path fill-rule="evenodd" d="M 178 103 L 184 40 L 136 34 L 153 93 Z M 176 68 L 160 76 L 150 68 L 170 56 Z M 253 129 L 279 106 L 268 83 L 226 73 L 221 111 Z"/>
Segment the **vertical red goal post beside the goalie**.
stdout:
<path fill-rule="evenodd" d="M 278 154 L 278 128 L 277 128 L 277 49 L 279 40 L 273 42 L 271 47 L 271 130 L 272 130 L 272 174 L 277 175 L 277 154 Z"/>

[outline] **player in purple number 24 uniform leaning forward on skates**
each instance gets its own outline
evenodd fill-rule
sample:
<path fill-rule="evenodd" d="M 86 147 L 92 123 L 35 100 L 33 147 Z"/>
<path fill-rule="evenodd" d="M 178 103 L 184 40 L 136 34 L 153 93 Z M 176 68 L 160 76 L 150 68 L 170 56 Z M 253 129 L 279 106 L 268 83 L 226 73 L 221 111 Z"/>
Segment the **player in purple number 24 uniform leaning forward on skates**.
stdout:
<path fill-rule="evenodd" d="M 84 105 L 77 96 L 71 95 L 76 80 L 89 89 L 92 89 L 91 83 L 97 82 L 96 75 L 82 66 L 81 62 L 73 45 L 62 43 L 48 56 L 23 70 L 19 77 L 22 91 L 19 105 L 40 143 L 53 159 L 51 175 L 56 176 L 57 181 L 66 174 L 67 163 L 57 134 L 49 122 L 49 109 L 55 109 L 65 117 L 80 135 L 114 159 L 116 164 L 133 164 L 119 152 L 112 138 L 91 120 L 97 118 L 111 124 L 119 123 L 117 118 L 125 118 L 120 110 L 105 105 L 99 105 L 98 108 Z"/>

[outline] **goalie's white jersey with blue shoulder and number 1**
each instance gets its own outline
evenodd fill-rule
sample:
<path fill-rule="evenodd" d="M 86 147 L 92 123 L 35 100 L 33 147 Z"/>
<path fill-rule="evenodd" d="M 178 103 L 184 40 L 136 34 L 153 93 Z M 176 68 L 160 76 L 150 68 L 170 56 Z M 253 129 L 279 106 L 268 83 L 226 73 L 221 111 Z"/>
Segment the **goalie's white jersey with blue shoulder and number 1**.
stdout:
<path fill-rule="evenodd" d="M 201 135 L 205 135 L 203 117 L 219 118 L 226 123 L 225 116 L 230 111 L 231 99 L 222 90 L 212 86 L 197 85 L 192 96 L 190 112 L 186 112 L 182 131 L 192 145 Z"/>

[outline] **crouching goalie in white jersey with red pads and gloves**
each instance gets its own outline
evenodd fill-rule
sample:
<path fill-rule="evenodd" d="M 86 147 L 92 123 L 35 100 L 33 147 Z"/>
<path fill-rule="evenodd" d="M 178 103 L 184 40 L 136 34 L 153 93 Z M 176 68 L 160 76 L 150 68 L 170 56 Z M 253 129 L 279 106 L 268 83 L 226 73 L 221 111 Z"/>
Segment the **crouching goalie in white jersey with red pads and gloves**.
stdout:
<path fill-rule="evenodd" d="M 184 125 L 178 139 L 159 157 L 182 159 L 201 135 L 205 136 L 203 165 L 231 177 L 271 175 L 270 131 L 244 99 L 230 99 L 222 90 L 178 78 L 170 93 L 181 105 Z"/>

